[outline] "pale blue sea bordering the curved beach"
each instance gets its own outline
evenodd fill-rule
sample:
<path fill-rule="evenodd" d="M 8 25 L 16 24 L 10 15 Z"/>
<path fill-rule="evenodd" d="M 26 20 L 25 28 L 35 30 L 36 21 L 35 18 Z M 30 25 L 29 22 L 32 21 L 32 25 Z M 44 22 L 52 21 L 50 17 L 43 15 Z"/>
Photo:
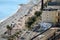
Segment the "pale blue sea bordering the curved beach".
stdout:
<path fill-rule="evenodd" d="M 0 20 L 12 15 L 18 8 L 18 4 L 26 4 L 29 0 L 0 0 Z"/>

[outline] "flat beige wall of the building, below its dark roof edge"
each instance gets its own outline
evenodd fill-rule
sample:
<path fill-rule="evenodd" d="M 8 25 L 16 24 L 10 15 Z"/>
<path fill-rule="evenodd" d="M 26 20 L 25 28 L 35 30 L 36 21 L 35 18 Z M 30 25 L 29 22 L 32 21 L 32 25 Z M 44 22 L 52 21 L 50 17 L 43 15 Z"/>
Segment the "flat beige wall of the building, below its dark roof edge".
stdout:
<path fill-rule="evenodd" d="M 48 10 L 48 9 L 47 9 Z M 53 9 L 52 9 L 53 10 Z M 56 23 L 58 20 L 56 17 L 58 16 L 58 11 L 57 10 L 44 10 L 42 13 L 42 22 L 53 22 Z"/>

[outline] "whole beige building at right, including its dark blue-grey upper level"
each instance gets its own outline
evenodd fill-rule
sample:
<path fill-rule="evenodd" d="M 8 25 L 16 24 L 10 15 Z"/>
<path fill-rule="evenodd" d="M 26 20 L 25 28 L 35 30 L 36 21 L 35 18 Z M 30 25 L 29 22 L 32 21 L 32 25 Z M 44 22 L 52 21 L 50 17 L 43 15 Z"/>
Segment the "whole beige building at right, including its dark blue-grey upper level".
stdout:
<path fill-rule="evenodd" d="M 57 23 L 60 21 L 60 3 L 58 0 L 51 0 L 43 9 L 42 22 Z"/>

